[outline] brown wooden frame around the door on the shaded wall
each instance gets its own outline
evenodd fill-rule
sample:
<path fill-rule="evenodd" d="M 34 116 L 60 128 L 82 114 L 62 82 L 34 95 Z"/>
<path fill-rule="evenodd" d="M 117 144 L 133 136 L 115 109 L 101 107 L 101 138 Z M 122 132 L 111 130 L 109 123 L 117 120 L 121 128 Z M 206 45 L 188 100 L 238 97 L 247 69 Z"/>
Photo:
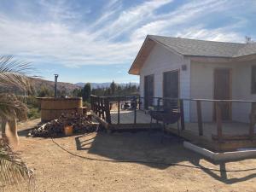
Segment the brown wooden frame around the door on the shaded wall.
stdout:
<path fill-rule="evenodd" d="M 212 86 L 212 98 L 213 100 L 215 99 L 215 75 L 216 75 L 216 71 L 219 70 L 219 69 L 224 69 L 224 70 L 229 70 L 229 73 L 230 73 L 230 79 L 229 79 L 229 84 L 230 84 L 230 89 L 229 89 L 229 99 L 231 100 L 232 99 L 232 76 L 233 76 L 233 71 L 232 71 L 232 68 L 230 67 L 214 67 L 213 68 L 213 86 Z M 215 106 L 215 103 L 213 102 L 212 103 L 212 119 L 213 121 L 216 121 L 216 106 Z M 232 119 L 232 102 L 230 102 L 230 105 L 229 105 L 229 119 L 228 120 L 231 120 Z"/>

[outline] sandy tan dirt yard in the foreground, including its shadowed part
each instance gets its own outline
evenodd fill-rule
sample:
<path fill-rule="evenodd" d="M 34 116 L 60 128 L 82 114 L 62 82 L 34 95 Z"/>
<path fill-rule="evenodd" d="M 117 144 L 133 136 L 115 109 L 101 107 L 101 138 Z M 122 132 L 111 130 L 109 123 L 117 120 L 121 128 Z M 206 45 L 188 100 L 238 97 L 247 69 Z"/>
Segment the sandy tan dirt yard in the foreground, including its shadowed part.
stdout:
<path fill-rule="evenodd" d="M 177 137 L 160 143 L 160 133 L 99 132 L 55 138 L 55 143 L 27 138 L 27 129 L 37 123 L 20 124 L 19 131 L 22 159 L 35 172 L 35 191 L 256 191 L 256 159 L 214 165 L 183 148 Z"/>

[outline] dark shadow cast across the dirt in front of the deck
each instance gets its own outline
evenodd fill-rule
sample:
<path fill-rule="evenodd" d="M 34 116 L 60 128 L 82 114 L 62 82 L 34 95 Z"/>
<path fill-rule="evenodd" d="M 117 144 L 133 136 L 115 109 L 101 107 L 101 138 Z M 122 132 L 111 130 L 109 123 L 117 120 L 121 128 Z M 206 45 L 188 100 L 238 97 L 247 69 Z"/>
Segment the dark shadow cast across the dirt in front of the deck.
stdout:
<path fill-rule="evenodd" d="M 171 136 L 161 143 L 161 138 L 160 132 L 150 135 L 147 132 L 112 134 L 98 132 L 94 137 L 90 134 L 75 137 L 75 142 L 78 150 L 86 150 L 89 154 L 101 155 L 115 161 L 131 161 L 157 169 L 166 169 L 169 166 L 188 166 L 189 164 L 185 165 L 184 161 L 189 161 L 192 164 L 190 166 L 193 167 L 188 167 L 188 170 L 197 167 L 209 176 L 227 184 L 239 183 L 256 177 L 256 173 L 253 173 L 245 177 L 229 179 L 225 172 L 225 165 L 228 162 L 218 163 L 218 170 L 208 169 L 201 165 L 201 160 L 205 160 L 201 155 L 183 148 L 183 139 Z M 210 163 L 213 164 L 213 162 Z M 256 170 L 255 168 L 250 167 L 248 171 Z"/>

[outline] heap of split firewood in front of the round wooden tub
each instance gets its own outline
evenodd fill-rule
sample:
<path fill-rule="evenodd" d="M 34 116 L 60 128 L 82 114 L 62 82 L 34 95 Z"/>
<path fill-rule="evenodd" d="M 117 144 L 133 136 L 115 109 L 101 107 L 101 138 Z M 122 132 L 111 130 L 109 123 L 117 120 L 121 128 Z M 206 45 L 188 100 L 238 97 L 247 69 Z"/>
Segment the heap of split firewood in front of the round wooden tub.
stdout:
<path fill-rule="evenodd" d="M 28 133 L 28 137 L 59 137 L 64 135 L 64 127 L 73 126 L 73 133 L 96 131 L 98 123 L 94 123 L 90 115 L 79 113 L 62 113 L 44 125 L 37 125 Z"/>

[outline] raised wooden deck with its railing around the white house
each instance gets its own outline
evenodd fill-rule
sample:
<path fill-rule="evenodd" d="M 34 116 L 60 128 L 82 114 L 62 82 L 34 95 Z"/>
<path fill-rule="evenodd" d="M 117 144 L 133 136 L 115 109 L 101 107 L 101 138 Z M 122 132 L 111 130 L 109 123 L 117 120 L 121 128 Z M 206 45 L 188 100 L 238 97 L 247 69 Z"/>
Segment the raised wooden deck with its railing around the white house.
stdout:
<path fill-rule="evenodd" d="M 112 102 L 109 100 L 112 99 Z M 90 96 L 91 108 L 96 119 L 108 131 L 137 131 L 160 129 L 161 124 L 153 121 L 150 124 L 150 115 L 142 110 L 124 109 L 122 98 L 117 97 L 116 101 L 112 97 Z M 125 100 L 126 101 L 126 100 Z M 256 148 L 256 111 L 252 108 L 250 124 L 238 122 L 225 122 L 222 120 L 220 105 L 222 102 L 253 102 L 253 101 L 218 101 L 187 99 L 197 104 L 197 120 L 199 123 L 184 123 L 183 99 L 179 99 L 179 111 L 181 113 L 180 130 L 177 124 L 167 125 L 166 131 L 170 131 L 192 143 L 204 145 L 215 151 L 227 151 L 237 148 Z M 216 122 L 206 123 L 202 119 L 201 101 L 212 102 L 216 106 Z M 139 102 L 135 106 L 140 108 Z"/>

